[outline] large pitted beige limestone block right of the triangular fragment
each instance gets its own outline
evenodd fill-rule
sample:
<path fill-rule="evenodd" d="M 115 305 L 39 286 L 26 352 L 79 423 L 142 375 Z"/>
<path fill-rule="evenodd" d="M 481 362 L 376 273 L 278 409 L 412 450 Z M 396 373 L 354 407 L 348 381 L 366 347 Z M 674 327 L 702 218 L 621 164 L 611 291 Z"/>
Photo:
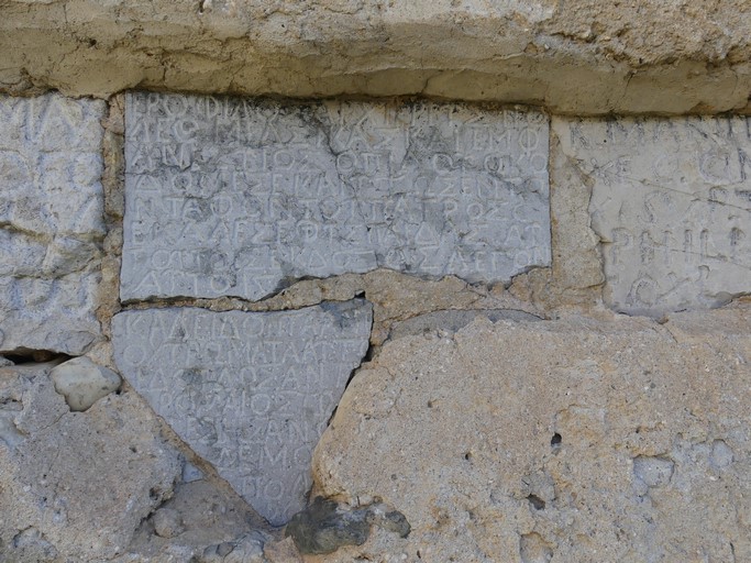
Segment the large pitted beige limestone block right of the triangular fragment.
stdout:
<path fill-rule="evenodd" d="M 313 493 L 380 498 L 411 532 L 309 561 L 751 560 L 750 325 L 747 306 L 386 343 Z"/>

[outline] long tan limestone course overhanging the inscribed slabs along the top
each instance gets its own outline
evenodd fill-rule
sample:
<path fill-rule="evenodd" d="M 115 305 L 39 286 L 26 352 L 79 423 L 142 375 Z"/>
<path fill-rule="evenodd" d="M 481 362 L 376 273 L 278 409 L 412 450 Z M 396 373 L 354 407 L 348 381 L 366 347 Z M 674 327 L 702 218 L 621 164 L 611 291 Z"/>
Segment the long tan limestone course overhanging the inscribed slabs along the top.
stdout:
<path fill-rule="evenodd" d="M 722 112 L 749 103 L 749 26 L 748 0 L 5 0 L 0 89 Z"/>

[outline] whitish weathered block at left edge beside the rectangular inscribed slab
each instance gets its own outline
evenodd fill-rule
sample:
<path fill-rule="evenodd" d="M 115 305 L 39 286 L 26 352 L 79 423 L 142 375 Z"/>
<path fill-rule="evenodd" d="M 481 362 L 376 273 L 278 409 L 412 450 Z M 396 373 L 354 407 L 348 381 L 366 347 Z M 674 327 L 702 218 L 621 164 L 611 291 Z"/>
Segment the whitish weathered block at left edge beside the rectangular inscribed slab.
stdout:
<path fill-rule="evenodd" d="M 0 351 L 80 354 L 99 336 L 104 108 L 0 97 Z"/>

